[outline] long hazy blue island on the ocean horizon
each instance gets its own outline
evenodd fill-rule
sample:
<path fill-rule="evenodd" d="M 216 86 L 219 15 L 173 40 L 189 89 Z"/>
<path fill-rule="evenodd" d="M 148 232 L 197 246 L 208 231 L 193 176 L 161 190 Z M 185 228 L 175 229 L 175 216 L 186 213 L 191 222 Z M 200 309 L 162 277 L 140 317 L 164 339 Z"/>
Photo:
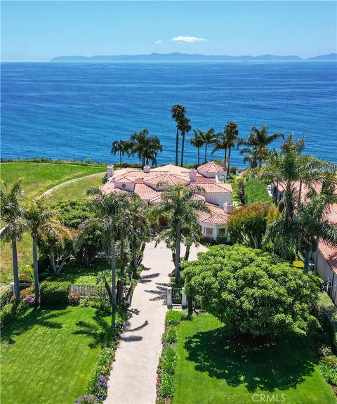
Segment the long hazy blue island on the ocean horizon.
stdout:
<path fill-rule="evenodd" d="M 112 61 L 207 61 L 207 60 L 337 60 L 337 53 L 314 56 L 312 58 L 300 58 L 300 56 L 225 56 L 225 55 L 201 55 L 198 53 L 149 53 L 144 55 L 115 55 L 115 56 L 57 56 L 51 62 L 112 62 Z"/>

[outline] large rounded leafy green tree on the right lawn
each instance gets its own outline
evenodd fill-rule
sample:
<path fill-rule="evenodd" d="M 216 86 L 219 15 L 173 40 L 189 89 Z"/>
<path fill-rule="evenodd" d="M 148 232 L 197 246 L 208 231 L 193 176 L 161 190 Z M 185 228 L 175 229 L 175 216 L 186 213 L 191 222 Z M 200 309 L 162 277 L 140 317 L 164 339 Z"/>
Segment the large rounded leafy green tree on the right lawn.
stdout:
<path fill-rule="evenodd" d="M 187 295 L 233 333 L 293 330 L 317 304 L 312 275 L 259 249 L 219 245 L 183 265 Z"/>

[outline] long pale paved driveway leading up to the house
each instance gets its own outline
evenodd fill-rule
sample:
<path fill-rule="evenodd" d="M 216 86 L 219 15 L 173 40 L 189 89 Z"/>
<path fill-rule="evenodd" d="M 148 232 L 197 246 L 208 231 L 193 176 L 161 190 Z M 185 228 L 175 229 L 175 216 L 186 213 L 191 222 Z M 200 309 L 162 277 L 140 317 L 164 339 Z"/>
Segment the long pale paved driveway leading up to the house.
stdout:
<path fill-rule="evenodd" d="M 183 246 L 182 246 L 183 250 Z M 191 249 L 190 259 L 197 258 L 200 246 Z M 184 254 L 184 250 L 181 252 Z M 117 348 L 105 404 L 154 404 L 156 402 L 157 365 L 164 332 L 166 287 L 173 271 L 171 250 L 164 243 L 145 247 L 141 274 Z"/>

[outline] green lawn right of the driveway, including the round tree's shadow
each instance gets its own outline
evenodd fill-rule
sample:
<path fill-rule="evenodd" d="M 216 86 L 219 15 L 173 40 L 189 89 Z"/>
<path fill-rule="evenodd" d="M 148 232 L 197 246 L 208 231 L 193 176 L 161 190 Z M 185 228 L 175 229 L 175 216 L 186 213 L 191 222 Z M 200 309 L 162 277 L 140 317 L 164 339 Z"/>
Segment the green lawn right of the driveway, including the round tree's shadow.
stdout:
<path fill-rule="evenodd" d="M 173 404 L 333 404 L 315 354 L 300 334 L 270 346 L 246 349 L 228 342 L 212 315 L 194 315 L 178 326 Z M 272 400 L 266 401 L 267 395 Z M 277 398 L 279 401 L 277 401 Z"/>

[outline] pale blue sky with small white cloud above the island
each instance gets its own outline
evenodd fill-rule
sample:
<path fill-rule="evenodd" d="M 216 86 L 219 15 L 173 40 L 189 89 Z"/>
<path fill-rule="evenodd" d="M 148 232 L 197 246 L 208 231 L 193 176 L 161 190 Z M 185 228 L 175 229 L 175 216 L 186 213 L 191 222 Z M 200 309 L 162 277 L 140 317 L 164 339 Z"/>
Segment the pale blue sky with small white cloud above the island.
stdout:
<path fill-rule="evenodd" d="M 1 60 L 336 52 L 336 1 L 1 1 Z"/>

